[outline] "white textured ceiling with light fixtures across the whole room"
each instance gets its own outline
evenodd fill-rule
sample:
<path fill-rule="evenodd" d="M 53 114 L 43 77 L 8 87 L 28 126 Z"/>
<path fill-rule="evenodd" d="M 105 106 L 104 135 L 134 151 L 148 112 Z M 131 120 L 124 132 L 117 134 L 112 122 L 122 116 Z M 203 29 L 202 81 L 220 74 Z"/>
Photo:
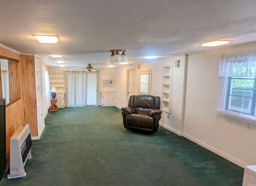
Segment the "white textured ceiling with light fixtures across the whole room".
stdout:
<path fill-rule="evenodd" d="M 212 49 L 198 45 L 212 40 L 256 41 L 255 0 L 2 0 L 0 6 L 0 44 L 38 54 L 50 66 L 58 65 L 50 54 L 64 55 L 69 67 L 104 67 L 111 49 L 126 49 L 135 64 L 147 55 Z M 40 44 L 32 34 L 60 42 Z"/>

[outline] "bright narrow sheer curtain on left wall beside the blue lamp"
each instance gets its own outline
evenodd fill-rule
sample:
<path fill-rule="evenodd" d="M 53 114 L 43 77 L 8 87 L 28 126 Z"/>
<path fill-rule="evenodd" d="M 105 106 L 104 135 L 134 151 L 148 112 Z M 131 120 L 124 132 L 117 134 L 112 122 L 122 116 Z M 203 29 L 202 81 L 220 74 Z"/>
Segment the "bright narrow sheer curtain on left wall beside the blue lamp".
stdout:
<path fill-rule="evenodd" d="M 43 71 L 43 100 L 44 100 L 44 116 L 48 113 L 48 109 L 51 106 L 50 96 L 50 80 L 48 71 Z"/>

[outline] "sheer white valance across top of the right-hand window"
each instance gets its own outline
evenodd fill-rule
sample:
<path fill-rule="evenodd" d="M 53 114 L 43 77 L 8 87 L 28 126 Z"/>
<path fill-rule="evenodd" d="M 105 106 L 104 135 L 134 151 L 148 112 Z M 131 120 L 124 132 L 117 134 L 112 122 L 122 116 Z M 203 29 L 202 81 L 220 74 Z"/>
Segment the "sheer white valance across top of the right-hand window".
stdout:
<path fill-rule="evenodd" d="M 243 52 L 222 56 L 219 77 L 256 77 L 256 53 Z"/>

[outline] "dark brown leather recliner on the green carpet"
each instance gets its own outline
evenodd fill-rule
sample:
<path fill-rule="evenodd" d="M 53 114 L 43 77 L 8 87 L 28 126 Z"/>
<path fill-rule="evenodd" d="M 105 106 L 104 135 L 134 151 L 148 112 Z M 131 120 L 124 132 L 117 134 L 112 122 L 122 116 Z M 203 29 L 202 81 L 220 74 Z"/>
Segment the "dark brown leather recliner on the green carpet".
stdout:
<path fill-rule="evenodd" d="M 122 107 L 124 128 L 145 132 L 156 132 L 162 111 L 160 97 L 132 95 L 128 107 Z"/>

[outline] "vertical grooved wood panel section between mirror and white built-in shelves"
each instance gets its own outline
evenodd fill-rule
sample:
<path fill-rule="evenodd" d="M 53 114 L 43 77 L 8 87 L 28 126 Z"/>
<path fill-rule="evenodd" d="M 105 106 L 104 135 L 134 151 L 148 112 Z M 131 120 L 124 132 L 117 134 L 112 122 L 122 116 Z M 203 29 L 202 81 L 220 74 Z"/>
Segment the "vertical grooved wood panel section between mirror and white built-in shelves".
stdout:
<path fill-rule="evenodd" d="M 20 57 L 21 95 L 24 108 L 24 123 L 30 125 L 32 137 L 38 136 L 35 57 L 21 55 Z"/>

